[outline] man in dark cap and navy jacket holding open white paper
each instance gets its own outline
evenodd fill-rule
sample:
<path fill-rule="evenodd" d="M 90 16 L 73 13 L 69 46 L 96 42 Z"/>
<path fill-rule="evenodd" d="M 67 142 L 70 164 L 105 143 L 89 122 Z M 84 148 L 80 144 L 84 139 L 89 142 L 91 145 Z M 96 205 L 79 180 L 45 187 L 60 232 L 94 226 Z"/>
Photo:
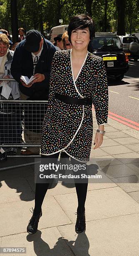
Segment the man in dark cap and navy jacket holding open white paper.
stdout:
<path fill-rule="evenodd" d="M 50 67 L 55 51 L 55 46 L 37 30 L 28 31 L 26 39 L 16 46 L 12 59 L 11 74 L 19 83 L 21 100 L 48 99 Z M 20 79 L 22 75 L 28 78 L 34 75 L 35 80 L 27 85 Z M 25 143 L 40 144 L 40 123 L 44 118 L 44 108 L 47 108 L 47 104 L 43 104 L 41 109 L 40 105 L 36 104 L 30 104 L 29 107 L 26 107 Z M 21 154 L 40 154 L 40 148 L 29 147 Z"/>

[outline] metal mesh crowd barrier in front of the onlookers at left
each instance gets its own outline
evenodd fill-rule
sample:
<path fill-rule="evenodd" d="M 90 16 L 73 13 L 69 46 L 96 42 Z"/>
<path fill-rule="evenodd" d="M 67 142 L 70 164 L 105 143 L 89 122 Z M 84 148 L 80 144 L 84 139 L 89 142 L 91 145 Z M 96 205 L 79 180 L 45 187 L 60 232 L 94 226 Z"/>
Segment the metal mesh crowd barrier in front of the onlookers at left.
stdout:
<path fill-rule="evenodd" d="M 47 102 L 0 100 L 0 147 L 40 147 L 41 127 Z"/>

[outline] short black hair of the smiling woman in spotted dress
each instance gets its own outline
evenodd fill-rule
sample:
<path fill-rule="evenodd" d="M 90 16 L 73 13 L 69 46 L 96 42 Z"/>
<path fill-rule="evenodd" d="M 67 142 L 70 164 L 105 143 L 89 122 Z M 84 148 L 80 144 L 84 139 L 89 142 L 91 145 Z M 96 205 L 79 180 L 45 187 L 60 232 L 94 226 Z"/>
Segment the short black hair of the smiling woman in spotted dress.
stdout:
<path fill-rule="evenodd" d="M 84 28 L 89 28 L 90 40 L 92 40 L 95 36 L 94 21 L 92 18 L 86 14 L 79 14 L 72 17 L 67 29 L 70 43 L 72 30 L 79 30 Z"/>

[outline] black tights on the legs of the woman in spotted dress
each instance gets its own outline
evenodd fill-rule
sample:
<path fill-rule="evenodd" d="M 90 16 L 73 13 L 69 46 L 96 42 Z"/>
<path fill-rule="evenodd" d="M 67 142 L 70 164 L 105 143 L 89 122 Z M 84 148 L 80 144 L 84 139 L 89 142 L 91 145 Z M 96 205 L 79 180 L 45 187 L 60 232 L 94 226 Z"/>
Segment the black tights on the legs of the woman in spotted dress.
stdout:
<path fill-rule="evenodd" d="M 57 159 L 59 157 L 60 153 L 56 153 L 50 156 L 45 156 L 42 155 L 42 158 L 46 158 L 46 159 L 50 159 L 53 158 L 55 159 L 55 162 L 57 162 Z M 71 162 L 72 164 L 77 164 L 77 160 L 71 158 Z M 78 162 L 79 164 L 79 162 Z M 77 212 L 78 213 L 82 213 L 84 212 L 85 208 L 85 200 L 86 200 L 86 196 L 87 196 L 87 186 L 88 186 L 88 179 L 86 179 L 86 183 L 77 183 L 76 179 L 74 179 L 75 182 L 75 187 L 76 187 L 76 192 L 77 192 L 77 198 L 78 198 L 78 208 L 77 208 Z M 35 189 L 35 208 L 34 208 L 34 213 L 37 215 L 40 213 L 41 211 L 41 207 L 42 207 L 42 202 L 45 198 L 47 189 L 49 187 L 50 183 L 36 183 L 36 189 Z"/>

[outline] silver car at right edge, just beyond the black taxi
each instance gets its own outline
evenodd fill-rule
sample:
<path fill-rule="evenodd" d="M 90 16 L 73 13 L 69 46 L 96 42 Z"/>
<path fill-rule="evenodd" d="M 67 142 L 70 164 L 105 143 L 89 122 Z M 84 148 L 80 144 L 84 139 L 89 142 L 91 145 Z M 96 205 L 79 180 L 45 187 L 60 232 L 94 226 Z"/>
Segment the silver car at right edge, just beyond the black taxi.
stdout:
<path fill-rule="evenodd" d="M 125 54 L 137 61 L 139 59 L 139 39 L 136 36 L 119 36 L 119 38 Z"/>

